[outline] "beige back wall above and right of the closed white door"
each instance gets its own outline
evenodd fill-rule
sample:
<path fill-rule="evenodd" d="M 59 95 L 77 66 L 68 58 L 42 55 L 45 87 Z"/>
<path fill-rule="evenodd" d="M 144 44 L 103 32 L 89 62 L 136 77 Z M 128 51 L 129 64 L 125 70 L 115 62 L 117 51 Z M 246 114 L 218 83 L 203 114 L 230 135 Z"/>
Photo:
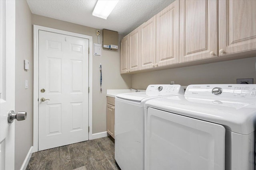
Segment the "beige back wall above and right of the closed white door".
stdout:
<path fill-rule="evenodd" d="M 98 43 L 96 29 L 32 14 L 32 24 L 92 36 Z M 119 35 L 119 40 L 122 36 Z M 102 42 L 102 36 L 100 37 Z M 120 42 L 120 41 L 119 41 Z M 120 46 L 119 46 L 120 47 Z M 120 51 L 102 50 L 102 57 L 92 59 L 92 133 L 106 131 L 106 90 L 131 87 L 131 75 L 120 75 Z M 102 64 L 102 93 L 100 93 L 100 71 Z"/>

